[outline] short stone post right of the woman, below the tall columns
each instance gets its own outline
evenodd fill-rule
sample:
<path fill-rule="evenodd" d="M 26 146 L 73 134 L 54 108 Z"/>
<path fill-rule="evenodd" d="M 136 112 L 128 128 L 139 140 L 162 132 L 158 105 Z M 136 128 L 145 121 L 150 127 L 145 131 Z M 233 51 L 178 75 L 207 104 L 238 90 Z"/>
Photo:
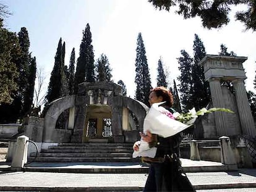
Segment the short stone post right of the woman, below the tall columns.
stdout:
<path fill-rule="evenodd" d="M 228 165 L 228 170 L 237 170 L 236 158 L 234 156 L 233 149 L 231 148 L 231 142 L 228 136 L 221 136 L 221 163 Z"/>

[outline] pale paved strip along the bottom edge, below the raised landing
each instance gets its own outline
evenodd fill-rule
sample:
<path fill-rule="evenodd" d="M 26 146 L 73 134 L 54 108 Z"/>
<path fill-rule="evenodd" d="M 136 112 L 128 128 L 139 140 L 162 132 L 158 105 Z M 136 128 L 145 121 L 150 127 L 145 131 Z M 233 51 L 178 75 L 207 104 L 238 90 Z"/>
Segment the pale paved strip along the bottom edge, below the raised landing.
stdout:
<path fill-rule="evenodd" d="M 249 188 L 256 191 L 256 169 L 236 172 L 187 173 L 198 191 L 223 191 L 225 188 Z M 0 172 L 0 190 L 13 191 L 142 191 L 147 179 L 143 173 L 51 173 Z M 228 190 L 234 191 L 234 190 Z M 237 190 L 236 190 L 237 191 Z"/>

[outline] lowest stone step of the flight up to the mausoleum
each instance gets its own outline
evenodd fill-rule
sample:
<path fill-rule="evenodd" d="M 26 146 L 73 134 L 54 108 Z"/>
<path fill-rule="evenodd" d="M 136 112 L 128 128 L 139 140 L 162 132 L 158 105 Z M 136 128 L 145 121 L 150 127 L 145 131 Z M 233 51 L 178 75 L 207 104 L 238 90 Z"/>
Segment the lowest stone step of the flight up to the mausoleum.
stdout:
<path fill-rule="evenodd" d="M 29 157 L 28 162 L 138 162 L 132 157 Z"/>

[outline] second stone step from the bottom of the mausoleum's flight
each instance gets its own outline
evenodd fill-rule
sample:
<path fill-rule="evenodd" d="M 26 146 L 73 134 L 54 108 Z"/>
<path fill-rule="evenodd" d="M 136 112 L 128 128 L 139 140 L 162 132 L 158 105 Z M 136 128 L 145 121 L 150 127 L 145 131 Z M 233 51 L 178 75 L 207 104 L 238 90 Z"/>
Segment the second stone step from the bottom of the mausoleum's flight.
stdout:
<path fill-rule="evenodd" d="M 35 152 L 30 154 L 35 157 Z M 131 153 L 117 152 L 117 153 L 54 153 L 54 152 L 41 152 L 38 157 L 132 157 Z"/>

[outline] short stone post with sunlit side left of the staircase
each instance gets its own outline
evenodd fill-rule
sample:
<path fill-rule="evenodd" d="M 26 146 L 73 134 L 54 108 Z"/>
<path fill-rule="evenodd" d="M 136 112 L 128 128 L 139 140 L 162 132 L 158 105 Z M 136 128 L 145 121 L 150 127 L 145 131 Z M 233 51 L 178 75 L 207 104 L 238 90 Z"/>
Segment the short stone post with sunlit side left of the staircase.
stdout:
<path fill-rule="evenodd" d="M 12 168 L 21 169 L 24 167 L 24 164 L 27 163 L 28 140 L 29 138 L 25 135 L 17 138 L 17 146 L 15 148 L 11 165 Z"/>

